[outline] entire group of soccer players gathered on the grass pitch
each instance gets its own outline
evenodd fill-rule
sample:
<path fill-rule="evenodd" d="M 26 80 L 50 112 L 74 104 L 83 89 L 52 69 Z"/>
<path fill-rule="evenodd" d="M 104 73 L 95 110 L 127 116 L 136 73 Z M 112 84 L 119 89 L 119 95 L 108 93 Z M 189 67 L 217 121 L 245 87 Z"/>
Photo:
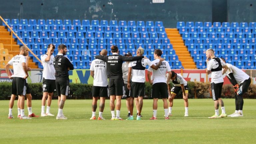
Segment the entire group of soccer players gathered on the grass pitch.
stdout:
<path fill-rule="evenodd" d="M 41 116 L 54 116 L 50 113 L 51 99 L 54 90 L 57 90 L 58 95 L 58 105 L 59 110 L 56 119 L 67 119 L 63 114 L 63 107 L 66 100 L 66 96 L 69 94 L 69 75 L 68 71 L 73 70 L 74 67 L 70 60 L 64 56 L 67 52 L 67 47 L 63 44 L 58 46 L 58 54 L 54 58 L 52 55 L 55 46 L 53 44 L 48 45 L 47 53 L 41 56 L 41 61 L 44 67 L 43 70 L 43 98 L 42 98 L 42 111 Z M 97 108 L 97 100 L 100 97 L 100 112 L 98 120 L 103 118 L 103 110 L 105 107 L 105 99 L 110 95 L 110 108 L 112 118 L 111 120 L 122 120 L 120 117 L 121 108 L 121 97 L 123 95 L 128 95 L 125 89 L 129 89 L 130 99 L 128 103 L 128 110 L 130 110 L 129 117 L 127 120 L 133 120 L 133 101 L 134 98 L 138 99 L 137 107 L 137 120 L 141 120 L 141 110 L 143 106 L 143 97 L 145 96 L 145 69 L 148 69 L 148 79 L 152 86 L 153 98 L 153 116 L 150 118 L 152 120 L 157 119 L 157 101 L 158 98 L 162 98 L 164 102 L 164 112 L 165 119 L 169 119 L 172 116 L 172 106 L 173 99 L 176 94 L 182 90 L 184 105 L 185 105 L 185 115 L 188 116 L 188 87 L 186 80 L 180 75 L 171 71 L 169 63 L 161 58 L 162 51 L 156 49 L 154 52 L 154 61 L 150 61 L 143 56 L 144 49 L 138 48 L 136 52 L 136 57 L 131 57 L 131 54 L 126 54 L 130 57 L 118 55 L 118 47 L 111 47 L 112 55 L 107 56 L 107 51 L 102 50 L 100 55 L 96 56 L 96 59 L 92 61 L 90 71 L 91 76 L 94 78 L 93 82 L 93 102 L 92 102 L 92 117 L 90 119 L 96 119 L 95 113 Z M 206 51 L 207 57 L 207 70 L 208 74 L 211 73 L 211 90 L 213 95 L 213 100 L 215 104 L 215 114 L 209 118 L 219 118 L 226 117 L 224 102 L 220 98 L 221 90 L 223 85 L 222 75 L 226 74 L 230 82 L 235 88 L 235 104 L 236 110 L 233 114 L 228 115 L 231 117 L 243 116 L 243 94 L 247 92 L 248 87 L 251 83 L 250 77 L 242 70 L 232 66 L 231 64 L 225 64 L 224 59 L 220 59 L 214 56 L 214 51 L 208 49 Z M 209 59 L 211 59 L 209 61 Z M 31 69 L 28 67 L 28 50 L 26 47 L 22 46 L 20 48 L 20 54 L 13 57 L 8 64 L 5 66 L 7 75 L 9 78 L 13 79 L 12 83 L 12 96 L 9 103 L 9 114 L 8 118 L 13 118 L 12 107 L 16 95 L 18 98 L 18 117 L 20 119 L 31 119 L 30 117 L 38 117 L 32 113 L 32 96 L 30 94 L 30 89 L 26 82 L 28 77 L 28 71 Z M 224 62 L 223 62 L 224 61 Z M 122 65 L 123 62 L 130 62 L 128 64 L 127 73 L 127 88 L 124 88 Z M 13 66 L 14 74 L 10 75 L 9 67 Z M 152 76 L 151 76 L 152 72 Z M 167 72 L 167 74 L 166 74 Z M 132 78 L 131 78 L 132 75 Z M 109 82 L 107 82 L 109 78 Z M 152 80 L 151 80 L 152 78 Z M 167 80 L 166 80 L 167 79 Z M 174 86 L 170 87 L 170 79 L 172 80 Z M 125 85 L 126 86 L 126 85 Z M 168 97 L 169 91 L 169 97 Z M 161 94 L 161 96 L 159 95 Z M 27 97 L 27 106 L 29 115 L 28 117 L 24 114 L 24 100 Z M 45 101 L 47 99 L 47 110 L 45 109 Z M 167 104 L 167 98 L 169 99 L 169 109 Z M 116 103 L 116 116 L 115 116 L 115 104 Z M 221 105 L 222 114 L 219 116 L 219 105 Z"/>

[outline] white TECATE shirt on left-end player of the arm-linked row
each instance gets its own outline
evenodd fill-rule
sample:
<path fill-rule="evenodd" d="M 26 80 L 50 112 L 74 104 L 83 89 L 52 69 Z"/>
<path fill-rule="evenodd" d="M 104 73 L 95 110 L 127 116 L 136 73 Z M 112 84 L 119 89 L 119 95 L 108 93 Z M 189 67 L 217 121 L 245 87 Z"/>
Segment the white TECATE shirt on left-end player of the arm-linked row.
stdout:
<path fill-rule="evenodd" d="M 107 86 L 108 76 L 107 76 L 107 63 L 95 59 L 91 63 L 90 71 L 94 71 L 93 86 Z"/>

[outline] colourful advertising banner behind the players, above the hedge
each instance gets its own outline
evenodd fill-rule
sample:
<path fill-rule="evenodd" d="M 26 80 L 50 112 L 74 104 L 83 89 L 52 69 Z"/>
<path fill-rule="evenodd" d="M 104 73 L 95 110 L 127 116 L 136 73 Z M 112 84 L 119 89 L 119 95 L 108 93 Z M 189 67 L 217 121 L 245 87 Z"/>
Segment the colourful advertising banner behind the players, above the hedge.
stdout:
<path fill-rule="evenodd" d="M 183 75 L 184 79 L 187 81 L 201 81 L 201 82 L 209 82 L 211 80 L 211 74 L 206 75 L 205 70 L 173 70 L 177 73 L 180 73 Z M 146 81 L 148 81 L 147 78 L 147 72 L 146 72 Z M 251 78 L 252 78 L 252 84 L 256 84 L 256 70 L 244 70 Z M 28 82 L 29 83 L 36 83 L 36 82 L 42 82 L 43 80 L 43 71 L 42 70 L 32 70 L 29 72 Z M 223 76 L 224 77 L 224 76 Z M 90 75 L 90 70 L 73 70 L 69 71 L 69 79 L 70 82 L 74 83 L 85 83 L 85 84 L 93 84 L 93 78 Z M 9 79 L 7 77 L 7 73 L 4 69 L 1 69 L 1 75 L 0 75 L 0 82 L 12 82 L 12 79 Z M 224 84 L 230 84 L 228 78 L 224 77 Z"/>

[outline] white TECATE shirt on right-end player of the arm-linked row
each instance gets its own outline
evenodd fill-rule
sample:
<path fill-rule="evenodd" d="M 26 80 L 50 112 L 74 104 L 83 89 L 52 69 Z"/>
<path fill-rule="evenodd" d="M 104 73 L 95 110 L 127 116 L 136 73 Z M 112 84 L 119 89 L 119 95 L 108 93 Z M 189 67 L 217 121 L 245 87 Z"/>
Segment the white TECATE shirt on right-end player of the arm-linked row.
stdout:
<path fill-rule="evenodd" d="M 158 62 L 159 62 L 159 59 L 156 59 L 156 60 L 152 61 L 152 64 L 157 65 Z M 148 71 L 152 72 L 153 84 L 158 83 L 158 82 L 166 83 L 165 74 L 166 74 L 166 72 L 170 72 L 171 68 L 170 68 L 170 65 L 168 62 L 163 61 L 157 70 L 154 70 L 149 67 Z"/>

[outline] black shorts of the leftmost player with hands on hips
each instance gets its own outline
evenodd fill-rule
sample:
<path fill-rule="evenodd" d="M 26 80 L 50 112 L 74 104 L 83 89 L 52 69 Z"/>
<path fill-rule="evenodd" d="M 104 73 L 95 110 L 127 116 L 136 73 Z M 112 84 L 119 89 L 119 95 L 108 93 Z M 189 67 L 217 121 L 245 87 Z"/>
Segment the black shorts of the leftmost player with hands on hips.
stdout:
<path fill-rule="evenodd" d="M 11 93 L 14 95 L 26 95 L 27 94 L 27 82 L 22 77 L 13 77 Z M 29 90 L 30 92 L 30 90 Z"/>

